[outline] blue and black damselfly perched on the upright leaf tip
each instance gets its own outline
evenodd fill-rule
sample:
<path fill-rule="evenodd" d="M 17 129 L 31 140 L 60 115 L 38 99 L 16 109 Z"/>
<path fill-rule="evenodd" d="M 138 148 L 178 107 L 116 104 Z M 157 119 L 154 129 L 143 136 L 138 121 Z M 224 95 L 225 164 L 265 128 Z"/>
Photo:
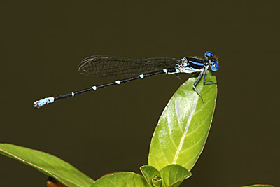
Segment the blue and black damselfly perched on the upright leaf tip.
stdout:
<path fill-rule="evenodd" d="M 126 83 L 128 81 L 133 81 L 140 78 L 146 78 L 148 76 L 179 73 L 199 73 L 197 80 L 193 84 L 193 88 L 202 99 L 202 95 L 196 88 L 198 81 L 200 81 L 200 78 L 202 78 L 204 74 L 204 82 L 214 83 L 206 80 L 207 71 L 209 71 L 209 69 L 211 71 L 217 71 L 219 68 L 218 60 L 216 57 L 214 57 L 213 53 L 207 51 L 204 56 L 206 58 L 205 60 L 197 57 L 183 57 L 182 59 L 167 57 L 111 57 L 98 55 L 87 57 L 82 60 L 78 66 L 78 71 L 80 71 L 80 74 L 86 76 L 131 76 L 139 74 L 139 76 L 125 78 L 102 85 L 93 85 L 90 88 L 69 92 L 64 95 L 46 97 L 34 102 L 34 107 L 40 108 L 41 106 L 58 101 L 60 99 L 74 97 L 92 90 L 97 90 L 110 85 L 119 85 L 121 83 Z"/>

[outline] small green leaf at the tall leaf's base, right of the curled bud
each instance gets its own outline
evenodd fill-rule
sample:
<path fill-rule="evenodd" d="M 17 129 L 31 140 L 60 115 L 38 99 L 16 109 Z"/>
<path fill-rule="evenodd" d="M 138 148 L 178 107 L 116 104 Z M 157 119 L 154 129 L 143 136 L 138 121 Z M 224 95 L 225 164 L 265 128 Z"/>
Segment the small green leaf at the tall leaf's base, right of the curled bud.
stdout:
<path fill-rule="evenodd" d="M 177 187 L 192 174 L 181 165 L 167 165 L 160 170 L 165 186 Z"/>

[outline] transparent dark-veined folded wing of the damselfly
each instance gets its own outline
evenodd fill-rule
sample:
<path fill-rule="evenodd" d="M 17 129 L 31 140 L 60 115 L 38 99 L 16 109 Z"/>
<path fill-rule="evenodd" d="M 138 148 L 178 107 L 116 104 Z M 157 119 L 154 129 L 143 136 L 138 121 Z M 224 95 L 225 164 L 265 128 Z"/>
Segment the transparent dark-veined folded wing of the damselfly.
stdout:
<path fill-rule="evenodd" d="M 80 62 L 78 71 L 86 76 L 130 76 L 174 68 L 179 62 L 175 58 L 166 57 L 92 56 Z"/>

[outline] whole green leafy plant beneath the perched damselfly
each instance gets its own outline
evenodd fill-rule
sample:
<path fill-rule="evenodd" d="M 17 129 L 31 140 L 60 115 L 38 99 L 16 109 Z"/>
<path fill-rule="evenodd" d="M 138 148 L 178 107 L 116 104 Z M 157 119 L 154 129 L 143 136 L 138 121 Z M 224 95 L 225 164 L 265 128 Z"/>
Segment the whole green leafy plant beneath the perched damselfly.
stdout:
<path fill-rule="evenodd" d="M 11 144 L 0 144 L 0 153 L 38 169 L 65 186 L 179 186 L 191 176 L 190 170 L 202 153 L 216 105 L 217 86 L 200 81 L 197 88 L 204 97 L 202 103 L 193 90 L 195 79 L 183 83 L 163 111 L 151 141 L 148 165 L 140 168 L 143 176 L 119 172 L 94 181 L 48 153 Z M 216 82 L 211 72 L 207 79 Z"/>

